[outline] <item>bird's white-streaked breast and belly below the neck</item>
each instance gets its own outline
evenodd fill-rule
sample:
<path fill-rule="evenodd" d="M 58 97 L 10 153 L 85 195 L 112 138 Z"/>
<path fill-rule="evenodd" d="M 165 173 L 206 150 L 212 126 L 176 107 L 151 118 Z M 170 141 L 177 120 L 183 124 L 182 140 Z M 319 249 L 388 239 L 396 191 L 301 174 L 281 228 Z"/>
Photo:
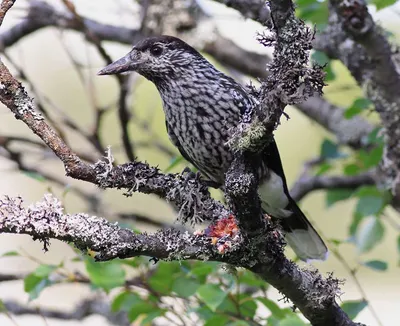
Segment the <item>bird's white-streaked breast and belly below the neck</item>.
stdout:
<path fill-rule="evenodd" d="M 191 94 L 189 90 L 184 95 Z M 229 104 L 212 96 L 192 95 L 163 98 L 169 132 L 176 137 L 176 146 L 183 149 L 190 161 L 206 176 L 223 183 L 232 161 L 226 142 L 229 130 L 239 121 Z M 171 137 L 172 139 L 172 137 Z"/>

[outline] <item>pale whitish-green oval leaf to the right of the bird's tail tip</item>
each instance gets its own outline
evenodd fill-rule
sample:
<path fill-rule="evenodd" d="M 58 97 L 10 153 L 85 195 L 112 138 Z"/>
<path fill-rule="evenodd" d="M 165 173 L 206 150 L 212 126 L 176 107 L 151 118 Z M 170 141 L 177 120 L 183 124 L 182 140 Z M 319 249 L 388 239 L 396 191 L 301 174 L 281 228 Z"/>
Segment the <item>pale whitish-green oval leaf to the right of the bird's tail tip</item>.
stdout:
<path fill-rule="evenodd" d="M 374 248 L 382 240 L 384 232 L 385 229 L 379 218 L 371 216 L 363 221 L 356 235 L 358 253 L 363 254 Z"/>

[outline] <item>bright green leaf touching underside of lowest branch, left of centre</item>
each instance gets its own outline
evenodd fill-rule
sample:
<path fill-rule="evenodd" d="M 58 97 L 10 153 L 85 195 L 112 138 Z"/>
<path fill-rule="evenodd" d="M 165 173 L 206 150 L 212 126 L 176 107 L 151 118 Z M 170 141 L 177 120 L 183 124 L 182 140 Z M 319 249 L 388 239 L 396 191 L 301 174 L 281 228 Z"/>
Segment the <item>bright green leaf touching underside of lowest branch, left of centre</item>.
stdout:
<path fill-rule="evenodd" d="M 125 271 L 119 261 L 95 262 L 93 258 L 85 259 L 86 271 L 93 285 L 109 291 L 125 284 Z"/>

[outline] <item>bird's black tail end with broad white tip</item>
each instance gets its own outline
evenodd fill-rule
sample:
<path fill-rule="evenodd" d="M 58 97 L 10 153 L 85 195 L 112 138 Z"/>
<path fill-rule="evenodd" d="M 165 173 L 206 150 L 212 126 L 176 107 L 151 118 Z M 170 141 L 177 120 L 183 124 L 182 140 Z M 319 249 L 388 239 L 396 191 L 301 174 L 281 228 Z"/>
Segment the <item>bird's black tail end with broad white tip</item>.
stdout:
<path fill-rule="evenodd" d="M 292 214 L 280 218 L 279 222 L 286 233 L 287 243 L 296 255 L 303 261 L 325 260 L 328 248 L 292 198 L 286 210 Z"/>

